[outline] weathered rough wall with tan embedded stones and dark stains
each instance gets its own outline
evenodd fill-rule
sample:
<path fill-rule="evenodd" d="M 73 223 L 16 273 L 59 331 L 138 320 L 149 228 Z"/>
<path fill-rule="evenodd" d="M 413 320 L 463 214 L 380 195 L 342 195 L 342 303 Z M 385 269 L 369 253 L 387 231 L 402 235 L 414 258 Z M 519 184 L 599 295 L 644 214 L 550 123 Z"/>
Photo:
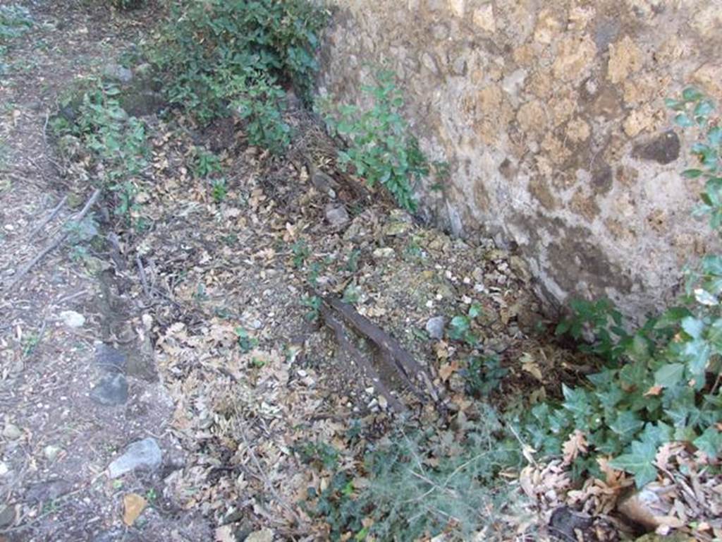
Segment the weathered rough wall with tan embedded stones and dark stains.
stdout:
<path fill-rule="evenodd" d="M 401 79 L 422 147 L 451 164 L 427 209 L 518 244 L 543 296 L 640 315 L 709 248 L 664 98 L 722 98 L 719 0 L 334 0 L 322 90 Z M 679 131 L 677 131 L 679 132 Z"/>

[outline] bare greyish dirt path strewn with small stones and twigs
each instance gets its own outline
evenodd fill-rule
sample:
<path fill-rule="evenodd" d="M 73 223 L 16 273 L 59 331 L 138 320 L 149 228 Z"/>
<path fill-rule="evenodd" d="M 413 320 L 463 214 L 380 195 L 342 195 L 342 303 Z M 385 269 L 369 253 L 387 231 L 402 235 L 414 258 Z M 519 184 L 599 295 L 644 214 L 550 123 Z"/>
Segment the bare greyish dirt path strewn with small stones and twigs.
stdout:
<path fill-rule="evenodd" d="M 152 18 L 149 12 L 136 20 L 116 17 L 88 4 L 23 2 L 32 27 L 4 59 L 5 285 L 92 192 L 58 175 L 48 145 L 48 116 L 58 95 L 77 77 L 114 61 Z M 136 470 L 116 480 L 105 475 L 110 462 L 140 439 L 157 442 L 164 465 L 180 459 L 167 435 L 173 402 L 155 376 L 137 307 L 118 295 L 112 273 L 105 281 L 96 278 L 92 265 L 103 265 L 98 256 L 79 258 L 72 246 L 62 246 L 12 290 L 0 290 L 0 540 L 209 540 L 203 520 L 164 501 L 162 470 Z M 128 494 L 149 504 L 132 528 L 121 520 Z"/>

